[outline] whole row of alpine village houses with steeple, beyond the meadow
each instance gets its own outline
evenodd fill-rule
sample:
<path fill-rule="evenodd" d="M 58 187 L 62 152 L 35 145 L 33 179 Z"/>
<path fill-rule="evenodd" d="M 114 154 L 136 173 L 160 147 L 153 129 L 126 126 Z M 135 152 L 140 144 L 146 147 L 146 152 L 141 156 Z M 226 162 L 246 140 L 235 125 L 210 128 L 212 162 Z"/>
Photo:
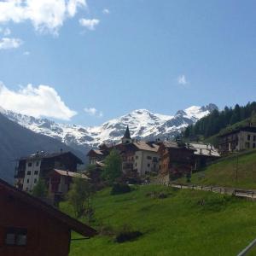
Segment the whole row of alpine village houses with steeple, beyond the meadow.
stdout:
<path fill-rule="evenodd" d="M 101 179 L 104 160 L 114 149 L 121 156 L 121 170 L 125 183 L 150 182 L 170 183 L 179 177 L 190 177 L 192 173 L 209 166 L 224 155 L 236 154 L 256 148 L 256 127 L 247 126 L 219 137 L 218 148 L 212 144 L 184 143 L 182 140 L 147 142 L 132 139 L 127 126 L 120 143 L 102 144 L 88 154 L 91 180 Z M 32 191 L 39 178 L 43 178 L 53 201 L 61 200 L 72 183 L 73 177 L 89 178 L 86 170 L 78 172 L 83 162 L 71 152 L 37 152 L 17 161 L 15 186 Z"/>

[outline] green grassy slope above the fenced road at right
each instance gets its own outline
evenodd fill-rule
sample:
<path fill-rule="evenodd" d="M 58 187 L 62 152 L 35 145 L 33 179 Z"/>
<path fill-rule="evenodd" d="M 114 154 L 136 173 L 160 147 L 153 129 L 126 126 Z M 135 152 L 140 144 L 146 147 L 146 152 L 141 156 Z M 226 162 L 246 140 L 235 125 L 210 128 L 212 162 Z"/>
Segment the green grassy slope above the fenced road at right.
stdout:
<path fill-rule="evenodd" d="M 192 175 L 191 183 L 256 189 L 256 150 L 230 156 Z M 237 173 L 237 178 L 236 178 Z M 179 180 L 185 182 L 185 179 Z"/>

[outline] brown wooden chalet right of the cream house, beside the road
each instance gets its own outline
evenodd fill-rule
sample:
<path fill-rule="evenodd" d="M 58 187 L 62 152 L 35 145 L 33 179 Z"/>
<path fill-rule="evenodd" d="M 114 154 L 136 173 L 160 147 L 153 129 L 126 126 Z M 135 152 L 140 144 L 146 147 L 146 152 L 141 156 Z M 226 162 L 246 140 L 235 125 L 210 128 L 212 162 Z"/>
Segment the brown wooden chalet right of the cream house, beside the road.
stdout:
<path fill-rule="evenodd" d="M 195 148 L 189 144 L 164 141 L 160 143 L 160 176 L 165 182 L 192 172 Z"/>

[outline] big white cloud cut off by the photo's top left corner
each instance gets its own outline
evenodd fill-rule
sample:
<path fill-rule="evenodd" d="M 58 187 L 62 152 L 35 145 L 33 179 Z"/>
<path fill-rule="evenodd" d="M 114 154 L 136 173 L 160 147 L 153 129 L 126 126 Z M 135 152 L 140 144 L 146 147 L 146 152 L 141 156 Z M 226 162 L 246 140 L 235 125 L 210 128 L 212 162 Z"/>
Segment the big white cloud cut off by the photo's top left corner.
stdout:
<path fill-rule="evenodd" d="M 39 32 L 57 34 L 64 20 L 72 18 L 86 0 L 6 0 L 0 2 L 0 23 L 30 20 Z"/>

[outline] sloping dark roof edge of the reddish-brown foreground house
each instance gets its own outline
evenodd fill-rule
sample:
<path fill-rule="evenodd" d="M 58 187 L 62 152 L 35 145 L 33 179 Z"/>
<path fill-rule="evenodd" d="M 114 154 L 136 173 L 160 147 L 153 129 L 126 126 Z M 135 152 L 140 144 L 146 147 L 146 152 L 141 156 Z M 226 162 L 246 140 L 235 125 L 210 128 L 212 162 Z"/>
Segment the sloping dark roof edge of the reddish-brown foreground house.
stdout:
<path fill-rule="evenodd" d="M 41 201 L 40 199 L 21 191 L 20 189 L 16 189 L 9 183 L 4 182 L 2 179 L 0 179 L 0 188 L 5 189 L 10 195 L 19 198 L 20 201 L 25 201 L 30 206 L 35 207 L 40 211 L 45 212 L 50 217 L 57 219 L 62 224 L 67 225 L 70 230 L 74 230 L 82 236 L 92 237 L 96 235 L 96 230 L 92 229 L 90 226 L 79 222 L 75 218 L 71 218 L 67 214 L 57 210 L 55 207 L 50 206 L 46 202 Z"/>

